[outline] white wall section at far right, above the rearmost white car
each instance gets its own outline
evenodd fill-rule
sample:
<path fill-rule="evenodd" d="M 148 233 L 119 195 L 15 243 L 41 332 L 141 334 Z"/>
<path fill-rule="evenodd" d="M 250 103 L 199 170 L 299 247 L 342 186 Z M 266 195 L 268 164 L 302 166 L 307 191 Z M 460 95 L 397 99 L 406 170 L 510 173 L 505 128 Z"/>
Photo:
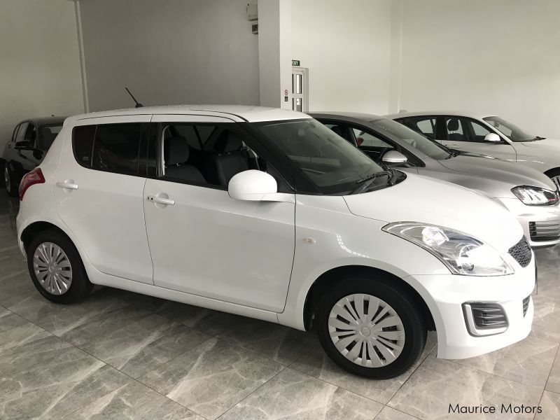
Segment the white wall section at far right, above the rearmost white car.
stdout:
<path fill-rule="evenodd" d="M 496 113 L 560 138 L 560 1 L 396 1 L 404 1 L 402 62 L 391 68 L 400 73 L 391 112 Z"/>

